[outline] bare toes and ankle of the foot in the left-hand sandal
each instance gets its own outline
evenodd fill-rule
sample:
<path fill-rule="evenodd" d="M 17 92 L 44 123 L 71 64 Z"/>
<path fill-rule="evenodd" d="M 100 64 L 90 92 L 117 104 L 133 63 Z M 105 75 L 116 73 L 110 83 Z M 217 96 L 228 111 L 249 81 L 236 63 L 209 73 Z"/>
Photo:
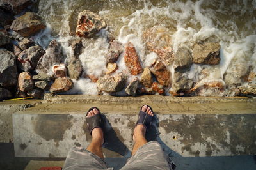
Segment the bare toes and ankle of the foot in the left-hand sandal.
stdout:
<path fill-rule="evenodd" d="M 99 114 L 99 111 L 96 108 L 94 108 L 92 111 L 88 112 L 86 117 L 91 117 L 95 114 Z M 101 145 L 104 143 L 103 131 L 101 128 L 93 128 L 92 140 L 99 142 Z"/>

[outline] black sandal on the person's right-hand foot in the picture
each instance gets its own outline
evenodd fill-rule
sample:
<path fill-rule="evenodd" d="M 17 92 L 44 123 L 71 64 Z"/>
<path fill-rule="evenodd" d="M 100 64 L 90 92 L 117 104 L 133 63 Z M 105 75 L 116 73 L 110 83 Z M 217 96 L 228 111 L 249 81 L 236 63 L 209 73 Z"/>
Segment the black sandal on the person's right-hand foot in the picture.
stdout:
<path fill-rule="evenodd" d="M 151 123 L 152 123 L 152 120 L 153 120 L 154 116 L 150 116 L 149 114 L 147 114 L 147 112 L 143 112 L 141 110 L 142 107 L 140 108 L 139 118 L 138 118 L 138 121 L 136 123 L 136 126 L 137 125 L 145 125 L 146 130 L 148 130 L 150 125 L 151 125 Z M 152 107 L 150 107 L 149 105 L 147 105 L 147 107 L 149 107 L 151 109 L 151 111 L 154 113 Z"/>

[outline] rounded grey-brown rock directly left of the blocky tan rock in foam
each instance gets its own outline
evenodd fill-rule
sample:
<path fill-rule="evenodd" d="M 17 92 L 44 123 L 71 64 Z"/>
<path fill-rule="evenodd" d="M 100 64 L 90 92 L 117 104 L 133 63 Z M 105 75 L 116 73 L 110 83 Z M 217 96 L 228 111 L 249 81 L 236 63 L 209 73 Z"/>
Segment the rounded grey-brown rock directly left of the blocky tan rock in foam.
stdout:
<path fill-rule="evenodd" d="M 181 47 L 174 55 L 174 69 L 190 68 L 193 63 L 193 58 L 189 49 Z"/>

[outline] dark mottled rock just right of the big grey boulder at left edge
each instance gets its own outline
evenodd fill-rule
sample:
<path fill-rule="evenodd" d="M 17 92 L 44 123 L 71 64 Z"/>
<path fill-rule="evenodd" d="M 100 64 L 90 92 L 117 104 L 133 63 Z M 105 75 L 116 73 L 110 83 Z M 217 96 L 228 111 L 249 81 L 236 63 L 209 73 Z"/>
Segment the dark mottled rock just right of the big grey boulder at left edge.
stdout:
<path fill-rule="evenodd" d="M 45 54 L 45 50 L 39 45 L 29 47 L 18 56 L 20 70 L 31 71 L 36 68 L 39 59 Z"/>

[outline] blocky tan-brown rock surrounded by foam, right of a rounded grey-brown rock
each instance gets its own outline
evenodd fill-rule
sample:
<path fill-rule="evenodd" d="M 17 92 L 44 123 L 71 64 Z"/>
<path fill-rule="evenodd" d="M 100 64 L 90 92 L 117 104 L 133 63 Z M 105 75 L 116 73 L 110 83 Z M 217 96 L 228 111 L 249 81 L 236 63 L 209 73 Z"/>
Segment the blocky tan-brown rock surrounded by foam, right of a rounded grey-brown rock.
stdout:
<path fill-rule="evenodd" d="M 193 48 L 193 63 L 218 65 L 220 63 L 220 44 L 205 43 L 201 45 L 196 43 Z"/>

